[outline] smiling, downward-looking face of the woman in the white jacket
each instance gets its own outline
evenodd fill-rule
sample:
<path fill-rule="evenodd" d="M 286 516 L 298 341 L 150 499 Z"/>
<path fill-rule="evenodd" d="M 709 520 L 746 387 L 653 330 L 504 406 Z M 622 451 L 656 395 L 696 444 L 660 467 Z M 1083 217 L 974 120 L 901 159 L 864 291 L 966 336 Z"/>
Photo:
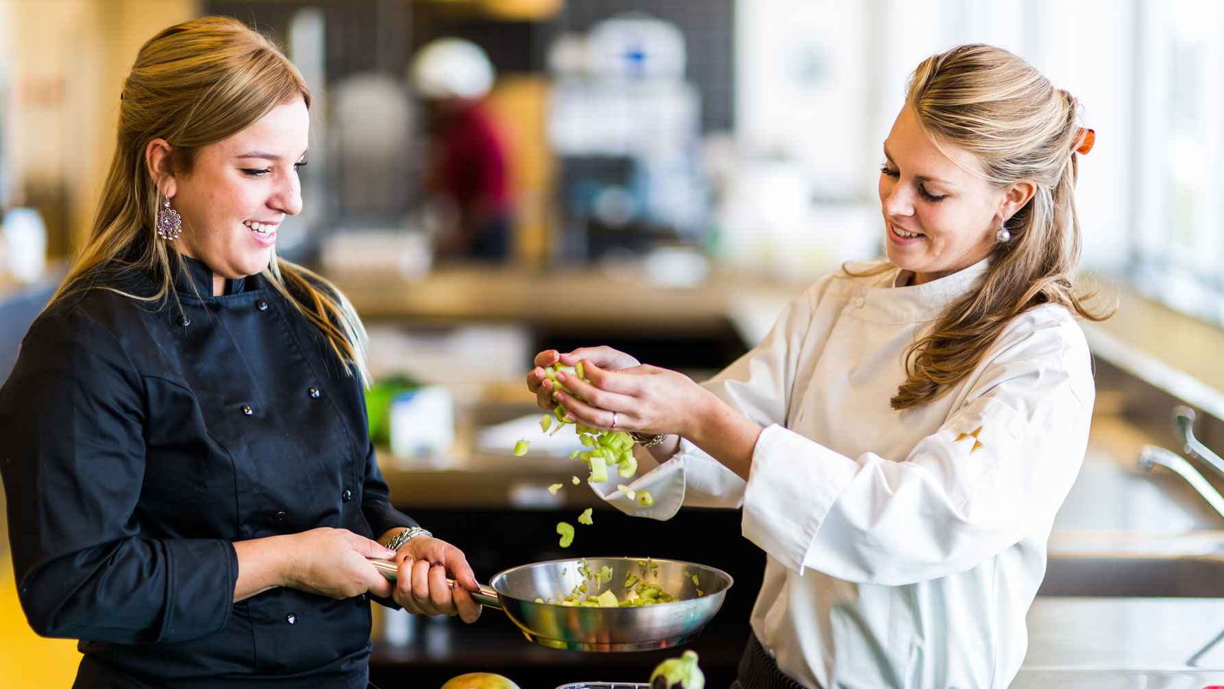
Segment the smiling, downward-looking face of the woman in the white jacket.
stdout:
<path fill-rule="evenodd" d="M 972 153 L 935 146 L 908 105 L 884 142 L 880 210 L 889 261 L 927 283 L 967 268 L 995 246 L 1001 218 L 1010 218 L 1024 190 L 1000 190 L 983 176 Z M 1023 182 L 1021 187 L 1029 186 Z M 1015 206 L 1015 208 L 1011 208 Z M 1010 212 L 1009 212 L 1010 209 Z"/>

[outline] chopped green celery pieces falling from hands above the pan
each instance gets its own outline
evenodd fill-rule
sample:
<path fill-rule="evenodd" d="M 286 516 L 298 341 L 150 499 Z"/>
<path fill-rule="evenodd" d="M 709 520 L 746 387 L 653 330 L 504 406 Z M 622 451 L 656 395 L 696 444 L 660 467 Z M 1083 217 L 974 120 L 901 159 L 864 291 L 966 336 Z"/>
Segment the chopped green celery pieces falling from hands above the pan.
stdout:
<path fill-rule="evenodd" d="M 557 379 L 557 373 L 564 371 L 580 381 L 588 381 L 586 376 L 583 373 L 583 362 L 579 361 L 577 366 L 563 366 L 561 363 L 554 363 L 543 370 L 545 376 L 552 381 L 554 389 L 564 390 L 569 394 L 574 394 L 573 390 L 565 387 L 564 383 Z M 556 421 L 556 422 L 554 422 Z M 553 408 L 552 414 L 545 414 L 540 417 L 540 432 L 548 433 L 550 436 L 556 434 L 567 425 L 574 426 L 574 432 L 578 433 L 578 441 L 583 444 L 585 450 L 574 450 L 570 453 L 569 459 L 577 459 L 585 461 L 586 466 L 590 469 L 590 475 L 588 481 L 591 483 L 602 483 L 608 480 L 608 467 L 616 466 L 617 475 L 622 479 L 633 479 L 634 474 L 638 472 L 638 458 L 633 456 L 633 437 L 623 431 L 597 431 L 595 428 L 588 428 L 581 423 L 575 423 L 567 419 L 565 406 L 558 404 Z M 551 430 L 551 432 L 550 432 Z M 528 453 L 530 444 L 526 438 L 520 439 L 514 443 L 514 456 L 523 456 Z M 573 485 L 579 483 L 578 476 L 572 480 Z M 561 483 L 553 483 L 548 486 L 548 492 L 557 494 L 562 487 Z M 633 491 L 624 483 L 617 486 L 630 501 L 636 501 L 638 504 L 643 507 L 650 507 L 655 504 L 655 498 L 651 497 L 647 491 Z M 590 525 L 591 510 L 586 509 L 579 518 L 579 524 Z M 557 525 L 557 532 L 561 534 L 561 547 L 568 548 L 570 543 L 574 542 L 574 527 L 570 524 L 562 521 Z"/>

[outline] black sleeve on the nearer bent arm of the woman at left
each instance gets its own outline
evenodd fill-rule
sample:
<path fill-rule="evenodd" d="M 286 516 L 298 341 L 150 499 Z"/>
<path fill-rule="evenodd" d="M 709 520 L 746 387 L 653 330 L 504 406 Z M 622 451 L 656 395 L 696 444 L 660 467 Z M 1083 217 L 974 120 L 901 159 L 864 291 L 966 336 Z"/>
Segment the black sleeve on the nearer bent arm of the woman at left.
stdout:
<path fill-rule="evenodd" d="M 82 313 L 31 328 L 0 389 L 0 467 L 17 594 L 40 635 L 176 642 L 229 622 L 233 543 L 142 532 L 143 422 L 113 333 Z"/>

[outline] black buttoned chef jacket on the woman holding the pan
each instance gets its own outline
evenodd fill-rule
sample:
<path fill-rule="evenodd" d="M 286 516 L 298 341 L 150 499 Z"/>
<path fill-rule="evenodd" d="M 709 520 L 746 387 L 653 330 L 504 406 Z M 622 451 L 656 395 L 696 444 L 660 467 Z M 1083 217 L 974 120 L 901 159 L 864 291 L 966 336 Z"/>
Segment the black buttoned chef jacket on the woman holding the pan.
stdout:
<path fill-rule="evenodd" d="M 187 267 L 181 311 L 92 289 L 22 341 L 0 388 L 22 606 L 39 634 L 81 639 L 77 687 L 364 688 L 366 596 L 234 603 L 231 545 L 414 525 L 389 504 L 360 381 L 263 277 L 212 296 L 208 267 Z"/>

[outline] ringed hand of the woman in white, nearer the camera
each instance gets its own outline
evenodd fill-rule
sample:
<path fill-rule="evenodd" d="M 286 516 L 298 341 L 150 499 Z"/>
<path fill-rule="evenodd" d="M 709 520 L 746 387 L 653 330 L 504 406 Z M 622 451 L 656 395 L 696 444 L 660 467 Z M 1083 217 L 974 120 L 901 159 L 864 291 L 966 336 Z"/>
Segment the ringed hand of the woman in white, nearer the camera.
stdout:
<path fill-rule="evenodd" d="M 606 371 L 584 361 L 583 373 L 590 383 L 558 373 L 557 381 L 573 394 L 558 389 L 556 399 L 565 405 L 570 419 L 591 428 L 693 438 L 703 414 L 718 403 L 688 376 L 657 366 Z"/>

